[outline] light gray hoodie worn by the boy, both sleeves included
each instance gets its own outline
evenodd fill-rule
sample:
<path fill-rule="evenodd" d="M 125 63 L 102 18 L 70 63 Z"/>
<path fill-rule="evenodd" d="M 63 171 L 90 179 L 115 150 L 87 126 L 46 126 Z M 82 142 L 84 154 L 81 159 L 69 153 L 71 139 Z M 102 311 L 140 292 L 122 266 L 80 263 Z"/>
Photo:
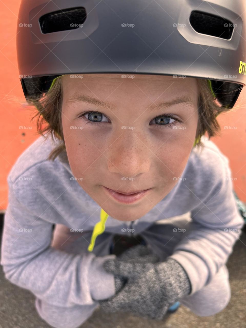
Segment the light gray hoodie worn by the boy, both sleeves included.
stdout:
<path fill-rule="evenodd" d="M 131 222 L 111 216 L 105 228 L 105 232 L 137 235 L 157 220 L 190 211 L 195 229 L 170 257 L 186 270 L 191 294 L 226 263 L 244 223 L 233 195 L 228 158 L 207 137 L 202 141 L 205 146 L 191 151 L 177 184 L 136 220 L 133 233 L 127 229 Z M 89 305 L 94 302 L 92 294 L 97 299 L 114 295 L 113 275 L 102 265 L 115 256 L 75 255 L 51 247 L 53 224 L 93 230 L 101 209 L 74 179 L 62 154 L 54 162 L 47 159 L 55 145 L 51 137 L 40 136 L 17 158 L 8 175 L 0 264 L 8 280 L 50 304 Z"/>

